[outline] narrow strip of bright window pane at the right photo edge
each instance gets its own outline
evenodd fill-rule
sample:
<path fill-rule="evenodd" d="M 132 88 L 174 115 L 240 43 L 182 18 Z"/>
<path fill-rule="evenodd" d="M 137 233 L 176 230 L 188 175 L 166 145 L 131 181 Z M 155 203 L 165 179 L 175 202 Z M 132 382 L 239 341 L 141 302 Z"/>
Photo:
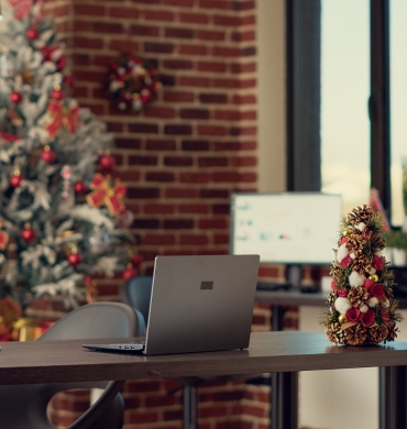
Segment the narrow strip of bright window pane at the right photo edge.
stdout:
<path fill-rule="evenodd" d="M 392 224 L 400 226 L 403 208 L 402 164 L 407 160 L 407 1 L 391 1 L 391 112 L 392 112 Z"/>

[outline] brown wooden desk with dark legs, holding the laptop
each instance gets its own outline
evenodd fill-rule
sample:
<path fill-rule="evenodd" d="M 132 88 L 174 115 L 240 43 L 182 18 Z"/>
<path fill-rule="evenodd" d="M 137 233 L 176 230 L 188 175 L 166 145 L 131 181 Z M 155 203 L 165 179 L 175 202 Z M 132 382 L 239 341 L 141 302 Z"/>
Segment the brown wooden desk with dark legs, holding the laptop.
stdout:
<path fill-rule="evenodd" d="M 84 340 L 2 343 L 0 384 L 276 372 L 284 374 L 285 383 L 277 386 L 280 395 L 278 408 L 274 410 L 278 411 L 274 429 L 297 429 L 298 371 L 386 366 L 386 429 L 407 427 L 404 385 L 407 343 L 404 342 L 345 348 L 330 345 L 322 333 L 254 332 L 248 350 L 163 356 L 92 352 L 82 350 L 82 342 Z"/>

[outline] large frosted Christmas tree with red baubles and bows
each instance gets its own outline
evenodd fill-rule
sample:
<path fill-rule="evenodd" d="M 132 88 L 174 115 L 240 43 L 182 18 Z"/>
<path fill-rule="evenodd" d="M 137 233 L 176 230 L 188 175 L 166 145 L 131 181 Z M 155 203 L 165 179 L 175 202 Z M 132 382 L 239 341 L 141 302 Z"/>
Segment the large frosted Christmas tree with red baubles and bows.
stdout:
<path fill-rule="evenodd" d="M 3 0 L 0 23 L 0 298 L 69 305 L 85 278 L 136 274 L 113 136 L 69 97 L 64 45 L 41 1 Z M 130 263 L 130 265 L 129 265 Z"/>

